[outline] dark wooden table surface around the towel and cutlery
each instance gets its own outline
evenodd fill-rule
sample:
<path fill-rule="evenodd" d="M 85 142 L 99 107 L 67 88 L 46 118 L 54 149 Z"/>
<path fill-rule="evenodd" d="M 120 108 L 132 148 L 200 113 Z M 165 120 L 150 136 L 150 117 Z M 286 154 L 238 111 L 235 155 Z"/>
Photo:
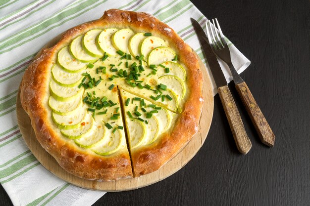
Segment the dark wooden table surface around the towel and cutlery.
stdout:
<path fill-rule="evenodd" d="M 263 145 L 230 83 L 252 149 L 235 146 L 219 96 L 207 140 L 174 175 L 94 206 L 310 206 L 309 0 L 192 0 L 251 61 L 248 83 L 276 135 Z M 0 186 L 0 206 L 12 203 Z"/>

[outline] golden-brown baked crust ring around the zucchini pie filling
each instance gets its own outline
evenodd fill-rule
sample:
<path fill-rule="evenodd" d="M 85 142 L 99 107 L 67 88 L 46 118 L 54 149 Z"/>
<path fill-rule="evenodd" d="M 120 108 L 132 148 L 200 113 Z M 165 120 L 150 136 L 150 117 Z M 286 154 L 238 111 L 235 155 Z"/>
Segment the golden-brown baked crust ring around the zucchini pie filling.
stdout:
<path fill-rule="evenodd" d="M 76 26 L 65 32 L 52 48 L 44 49 L 26 70 L 21 82 L 21 103 L 28 113 L 36 137 L 66 171 L 85 179 L 102 181 L 132 177 L 128 152 L 103 157 L 89 154 L 61 137 L 51 122 L 50 109 L 45 102 L 49 96 L 49 80 L 52 64 L 57 52 L 75 37 L 95 28 L 131 28 L 136 32 L 152 32 L 169 42 L 181 62 L 188 68 L 187 85 L 189 95 L 183 112 L 170 133 L 144 148 L 132 151 L 135 176 L 150 173 L 169 161 L 198 131 L 202 111 L 203 76 L 198 59 L 192 49 L 166 24 L 148 13 L 110 9 L 96 21 Z"/>

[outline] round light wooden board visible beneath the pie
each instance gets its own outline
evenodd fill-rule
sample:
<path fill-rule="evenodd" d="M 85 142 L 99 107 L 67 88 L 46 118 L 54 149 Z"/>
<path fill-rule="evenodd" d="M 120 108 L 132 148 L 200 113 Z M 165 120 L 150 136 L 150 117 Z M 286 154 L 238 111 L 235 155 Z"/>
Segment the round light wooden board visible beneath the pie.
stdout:
<path fill-rule="evenodd" d="M 50 41 L 44 48 L 52 47 L 57 41 L 59 41 L 60 38 L 61 35 L 58 35 L 56 38 Z M 37 56 L 40 55 L 41 51 L 37 54 Z M 168 163 L 160 167 L 155 172 L 140 177 L 120 179 L 109 182 L 85 180 L 68 173 L 62 167 L 60 167 L 60 165 L 58 165 L 56 160 L 48 152 L 46 152 L 45 149 L 43 149 L 43 147 L 37 141 L 35 132 L 31 126 L 30 118 L 21 106 L 20 90 L 19 90 L 16 102 L 16 113 L 20 132 L 30 151 L 38 159 L 38 161 L 45 168 L 51 171 L 54 175 L 73 185 L 87 189 L 103 190 L 107 192 L 134 190 L 151 185 L 155 182 L 165 179 L 166 177 L 172 175 L 173 173 L 181 169 L 184 165 L 186 165 L 196 155 L 196 153 L 202 147 L 207 138 L 207 133 L 209 131 L 213 116 L 213 95 L 212 95 L 210 78 L 207 74 L 205 65 L 203 64 L 199 56 L 197 57 L 199 59 L 200 67 L 204 76 L 204 84 L 203 84 L 204 104 L 199 124 L 199 131 L 193 136 L 191 141 L 189 141 L 189 143 L 184 148 L 182 148 L 182 150 L 174 158 L 172 158 Z"/>

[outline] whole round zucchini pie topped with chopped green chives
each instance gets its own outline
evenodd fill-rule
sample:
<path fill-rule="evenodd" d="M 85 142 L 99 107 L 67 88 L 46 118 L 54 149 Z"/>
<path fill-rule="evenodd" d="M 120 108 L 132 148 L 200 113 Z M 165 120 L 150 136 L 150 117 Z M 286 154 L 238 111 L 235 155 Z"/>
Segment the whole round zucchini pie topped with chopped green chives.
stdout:
<path fill-rule="evenodd" d="M 111 181 L 151 173 L 198 131 L 198 59 L 148 13 L 110 9 L 69 29 L 26 70 L 21 103 L 67 172 Z"/>

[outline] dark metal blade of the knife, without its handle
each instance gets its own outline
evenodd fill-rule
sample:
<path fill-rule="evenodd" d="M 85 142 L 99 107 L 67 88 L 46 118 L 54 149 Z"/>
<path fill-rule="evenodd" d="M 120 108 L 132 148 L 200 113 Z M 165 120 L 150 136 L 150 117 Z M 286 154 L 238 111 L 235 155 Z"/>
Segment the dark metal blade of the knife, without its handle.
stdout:
<path fill-rule="evenodd" d="M 208 65 L 212 72 L 213 79 L 215 81 L 216 87 L 227 85 L 227 81 L 222 72 L 221 67 L 218 64 L 215 54 L 213 53 L 210 45 L 207 42 L 207 35 L 200 24 L 193 18 L 191 18 L 192 25 L 198 36 L 199 42 L 204 50 L 205 57 L 207 59 Z"/>

